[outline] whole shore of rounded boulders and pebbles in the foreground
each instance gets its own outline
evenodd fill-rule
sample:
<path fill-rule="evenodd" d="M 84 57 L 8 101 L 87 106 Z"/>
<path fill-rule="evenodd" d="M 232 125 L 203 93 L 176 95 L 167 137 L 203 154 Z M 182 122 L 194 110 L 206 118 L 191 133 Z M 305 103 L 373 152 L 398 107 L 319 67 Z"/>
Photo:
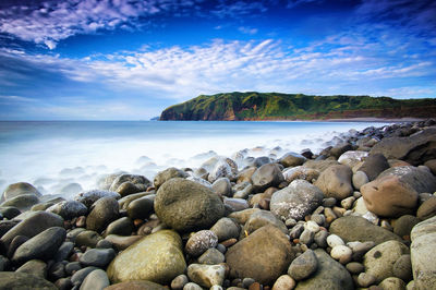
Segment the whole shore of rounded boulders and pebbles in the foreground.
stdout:
<path fill-rule="evenodd" d="M 0 289 L 436 289 L 436 121 L 332 144 L 109 174 L 73 201 L 10 184 Z"/>

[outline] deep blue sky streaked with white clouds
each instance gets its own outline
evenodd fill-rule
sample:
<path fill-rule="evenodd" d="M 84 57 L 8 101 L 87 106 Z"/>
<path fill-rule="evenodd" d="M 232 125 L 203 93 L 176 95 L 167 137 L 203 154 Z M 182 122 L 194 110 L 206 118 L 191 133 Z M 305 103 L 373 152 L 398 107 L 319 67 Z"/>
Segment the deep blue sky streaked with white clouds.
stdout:
<path fill-rule="evenodd" d="M 148 120 L 229 92 L 434 98 L 436 1 L 0 1 L 0 120 Z"/>

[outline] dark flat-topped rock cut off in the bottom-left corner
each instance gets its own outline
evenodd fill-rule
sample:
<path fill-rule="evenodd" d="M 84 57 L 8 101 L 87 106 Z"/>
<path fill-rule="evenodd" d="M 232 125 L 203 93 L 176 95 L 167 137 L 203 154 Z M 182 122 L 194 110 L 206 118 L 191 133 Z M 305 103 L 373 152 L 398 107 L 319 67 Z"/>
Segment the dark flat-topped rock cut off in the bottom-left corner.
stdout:
<path fill-rule="evenodd" d="M 58 288 L 44 278 L 27 273 L 0 271 L 0 289 L 40 289 Z"/>

